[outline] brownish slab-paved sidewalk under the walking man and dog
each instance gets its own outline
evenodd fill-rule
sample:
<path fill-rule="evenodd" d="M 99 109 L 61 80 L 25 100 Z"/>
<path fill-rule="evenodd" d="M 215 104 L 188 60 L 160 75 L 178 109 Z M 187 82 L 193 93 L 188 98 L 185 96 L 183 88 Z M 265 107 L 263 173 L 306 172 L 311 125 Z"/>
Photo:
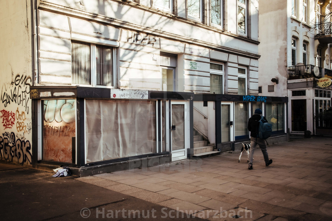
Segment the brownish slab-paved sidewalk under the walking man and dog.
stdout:
<path fill-rule="evenodd" d="M 230 151 L 199 160 L 76 180 L 184 211 L 207 220 L 331 220 L 332 138 L 294 139 L 262 152 Z M 169 210 L 168 210 L 169 211 Z"/>

